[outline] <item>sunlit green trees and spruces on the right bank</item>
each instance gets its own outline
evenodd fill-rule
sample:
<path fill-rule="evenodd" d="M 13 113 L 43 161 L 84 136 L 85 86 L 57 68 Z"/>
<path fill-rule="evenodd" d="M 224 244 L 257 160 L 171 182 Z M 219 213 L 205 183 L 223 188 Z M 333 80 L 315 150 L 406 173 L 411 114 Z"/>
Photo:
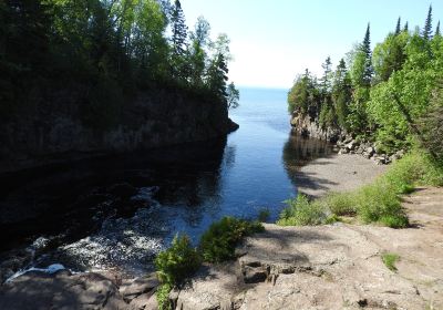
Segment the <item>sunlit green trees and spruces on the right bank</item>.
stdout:
<path fill-rule="evenodd" d="M 320 78 L 306 70 L 295 80 L 289 113 L 373 141 L 381 152 L 411 147 L 418 137 L 441 147 L 433 133 L 443 122 L 443 39 L 440 21 L 433 29 L 432 20 L 432 7 L 422 29 L 411 31 L 399 18 L 373 50 L 368 24 L 363 41 L 334 70 L 328 56 Z"/>

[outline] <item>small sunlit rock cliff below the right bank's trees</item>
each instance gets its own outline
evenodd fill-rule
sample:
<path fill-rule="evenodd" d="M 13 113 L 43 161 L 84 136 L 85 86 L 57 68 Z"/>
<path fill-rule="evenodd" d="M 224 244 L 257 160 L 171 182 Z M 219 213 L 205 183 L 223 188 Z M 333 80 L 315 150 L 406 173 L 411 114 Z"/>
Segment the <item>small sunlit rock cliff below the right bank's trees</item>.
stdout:
<path fill-rule="evenodd" d="M 341 136 L 346 135 L 339 128 L 328 127 L 323 130 L 318 120 L 312 120 L 309 115 L 303 116 L 297 112 L 292 113 L 290 124 L 293 132 L 305 137 L 309 136 L 336 143 Z"/>

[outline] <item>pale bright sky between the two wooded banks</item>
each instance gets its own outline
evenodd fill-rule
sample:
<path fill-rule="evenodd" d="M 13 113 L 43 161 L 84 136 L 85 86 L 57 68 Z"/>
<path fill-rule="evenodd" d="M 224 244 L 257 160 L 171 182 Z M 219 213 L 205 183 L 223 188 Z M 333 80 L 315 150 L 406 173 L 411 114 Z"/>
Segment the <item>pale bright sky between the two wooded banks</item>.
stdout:
<path fill-rule="evenodd" d="M 442 0 L 181 0 L 189 30 L 199 16 L 212 37 L 226 33 L 234 60 L 229 79 L 237 86 L 291 86 L 309 69 L 321 74 L 331 56 L 336 66 L 361 42 L 368 22 L 372 48 L 395 29 L 399 17 L 409 29 L 423 28 L 429 6 L 433 27 L 443 23 Z M 443 25 L 442 25 L 443 28 Z"/>

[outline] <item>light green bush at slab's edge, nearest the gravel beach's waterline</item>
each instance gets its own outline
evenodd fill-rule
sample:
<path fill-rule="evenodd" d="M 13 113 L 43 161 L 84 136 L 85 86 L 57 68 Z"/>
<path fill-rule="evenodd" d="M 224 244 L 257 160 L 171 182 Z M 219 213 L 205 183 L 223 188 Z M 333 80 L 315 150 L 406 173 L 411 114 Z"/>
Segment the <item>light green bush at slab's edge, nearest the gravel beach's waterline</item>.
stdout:
<path fill-rule="evenodd" d="M 281 226 L 305 226 L 323 224 L 327 216 L 324 208 L 319 202 L 309 202 L 309 199 L 299 194 L 297 198 L 286 200 L 288 205 L 280 214 L 277 221 Z"/>

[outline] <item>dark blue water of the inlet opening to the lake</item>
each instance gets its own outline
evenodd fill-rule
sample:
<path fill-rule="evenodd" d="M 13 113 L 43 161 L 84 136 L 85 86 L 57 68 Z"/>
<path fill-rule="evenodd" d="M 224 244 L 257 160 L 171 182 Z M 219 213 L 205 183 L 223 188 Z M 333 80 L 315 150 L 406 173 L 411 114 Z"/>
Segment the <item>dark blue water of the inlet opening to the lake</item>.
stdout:
<path fill-rule="evenodd" d="M 177 232 L 196 242 L 214 220 L 262 208 L 276 220 L 297 168 L 331 148 L 290 134 L 285 90 L 240 95 L 227 138 L 1 176 L 0 259 L 24 248 L 28 267 L 140 273 Z"/>

